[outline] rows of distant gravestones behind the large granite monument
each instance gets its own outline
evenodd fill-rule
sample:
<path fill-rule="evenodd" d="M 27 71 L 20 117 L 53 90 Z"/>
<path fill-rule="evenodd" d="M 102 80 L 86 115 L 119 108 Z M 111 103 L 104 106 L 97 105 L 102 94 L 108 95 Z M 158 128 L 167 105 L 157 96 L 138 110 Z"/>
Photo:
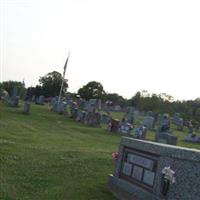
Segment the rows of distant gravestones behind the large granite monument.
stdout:
<path fill-rule="evenodd" d="M 17 91 L 16 88 L 13 90 L 13 95 L 11 97 L 6 97 L 4 100 L 11 106 L 18 106 L 19 97 L 16 96 Z M 40 96 L 36 99 L 35 103 L 39 105 L 43 105 L 45 101 L 44 96 Z M 132 124 L 135 118 L 139 116 L 139 112 L 134 109 L 134 107 L 128 107 L 127 112 L 122 120 L 122 122 L 119 122 L 118 120 L 112 119 L 111 116 L 103 114 L 101 115 L 96 110 L 99 110 L 101 107 L 101 102 L 98 99 L 90 99 L 89 101 L 80 101 L 79 107 L 83 110 L 79 110 L 77 108 L 77 103 L 75 103 L 72 100 L 68 101 L 69 106 L 71 108 L 71 117 L 74 118 L 76 121 L 84 122 L 87 125 L 94 126 L 94 127 L 100 127 L 101 123 L 108 124 L 108 130 L 110 132 L 116 132 L 119 131 L 122 135 L 123 134 L 129 134 L 136 137 L 144 139 L 146 137 L 146 130 L 147 129 L 154 129 L 155 123 L 158 119 L 158 115 L 155 115 L 153 112 L 149 111 L 147 112 L 147 116 L 144 117 L 143 123 L 140 127 L 135 128 L 134 131 L 132 130 Z M 58 112 L 59 114 L 67 113 L 67 104 L 66 101 L 60 101 L 58 103 L 58 97 L 52 98 L 50 105 L 52 106 L 52 109 Z M 24 104 L 24 110 L 23 113 L 29 114 L 30 113 L 30 103 L 25 102 Z M 169 144 L 176 144 L 177 137 L 172 134 L 172 132 L 167 132 L 162 129 L 169 129 L 170 127 L 170 121 L 169 117 L 168 119 L 161 119 L 161 123 L 165 123 L 161 125 L 161 131 L 156 133 L 156 141 L 166 142 Z M 180 118 L 180 115 L 178 113 L 175 113 L 174 117 L 170 119 L 173 124 L 177 125 L 178 130 L 183 130 L 183 119 Z M 167 122 L 165 122 L 167 121 Z M 168 127 L 165 127 L 168 126 Z M 189 135 L 186 137 L 187 142 L 200 142 L 200 138 L 193 133 L 193 127 L 192 123 L 189 122 L 188 125 L 189 128 Z"/>

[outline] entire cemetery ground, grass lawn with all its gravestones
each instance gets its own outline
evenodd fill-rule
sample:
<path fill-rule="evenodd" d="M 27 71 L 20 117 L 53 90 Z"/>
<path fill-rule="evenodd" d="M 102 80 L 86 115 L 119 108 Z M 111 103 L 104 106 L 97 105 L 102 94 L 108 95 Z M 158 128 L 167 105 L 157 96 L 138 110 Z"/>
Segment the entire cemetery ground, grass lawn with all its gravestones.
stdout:
<path fill-rule="evenodd" d="M 3 199 L 197 199 L 200 132 L 190 122 L 178 129 L 177 114 L 36 102 L 0 101 Z"/>

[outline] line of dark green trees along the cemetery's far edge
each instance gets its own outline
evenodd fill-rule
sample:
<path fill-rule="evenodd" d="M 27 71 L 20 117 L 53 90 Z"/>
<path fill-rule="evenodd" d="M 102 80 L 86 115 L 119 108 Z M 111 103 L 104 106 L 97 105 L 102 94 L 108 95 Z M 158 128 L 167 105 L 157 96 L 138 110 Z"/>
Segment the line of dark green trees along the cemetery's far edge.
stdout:
<path fill-rule="evenodd" d="M 12 95 L 14 87 L 18 89 L 18 95 L 21 98 L 58 96 L 62 83 L 62 75 L 53 71 L 39 78 L 39 84 L 35 87 L 25 87 L 23 82 L 4 81 L 0 83 L 0 96 L 3 93 Z M 73 97 L 81 97 L 82 99 L 101 99 L 102 102 L 109 101 L 112 105 L 120 105 L 121 107 L 134 106 L 140 111 L 153 111 L 157 113 L 174 114 L 176 112 L 184 119 L 192 119 L 200 122 L 200 98 L 187 101 L 174 101 L 173 97 L 166 94 L 150 94 L 148 91 L 138 91 L 130 99 L 126 99 L 117 93 L 107 93 L 103 85 L 96 81 L 91 81 L 82 86 L 77 93 L 67 92 L 68 83 L 64 80 L 62 96 L 71 95 Z"/>

